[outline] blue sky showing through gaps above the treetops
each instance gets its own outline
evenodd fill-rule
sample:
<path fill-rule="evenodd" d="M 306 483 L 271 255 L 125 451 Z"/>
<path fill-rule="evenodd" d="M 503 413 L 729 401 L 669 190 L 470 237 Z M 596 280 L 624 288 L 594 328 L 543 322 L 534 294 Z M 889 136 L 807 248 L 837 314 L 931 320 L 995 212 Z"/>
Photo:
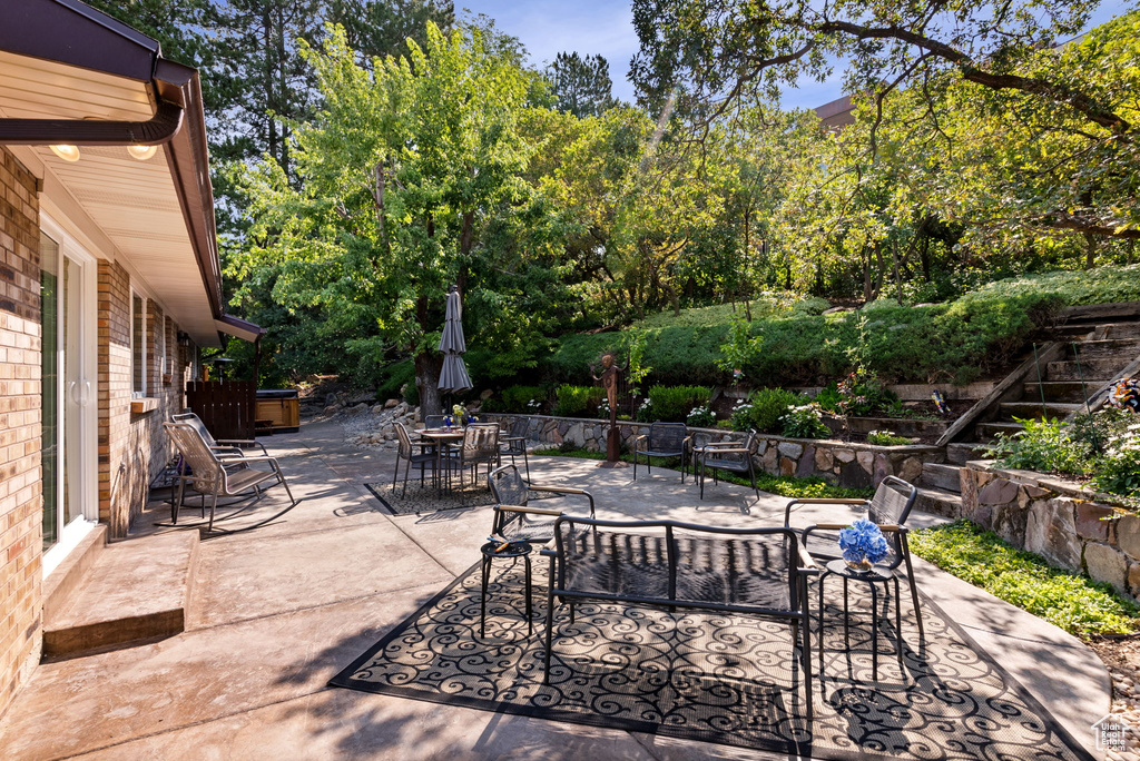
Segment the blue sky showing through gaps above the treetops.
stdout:
<path fill-rule="evenodd" d="M 610 62 L 613 95 L 634 99 L 626 80 L 629 59 L 640 43 L 633 27 L 630 5 L 622 0 L 457 0 L 456 8 L 486 14 L 499 28 L 522 40 L 531 63 L 542 66 L 562 51 L 601 54 Z M 1093 14 L 1090 26 L 1121 15 L 1134 2 L 1107 0 Z M 804 81 L 784 93 L 784 106 L 814 108 L 842 95 L 839 74 L 828 82 Z"/>

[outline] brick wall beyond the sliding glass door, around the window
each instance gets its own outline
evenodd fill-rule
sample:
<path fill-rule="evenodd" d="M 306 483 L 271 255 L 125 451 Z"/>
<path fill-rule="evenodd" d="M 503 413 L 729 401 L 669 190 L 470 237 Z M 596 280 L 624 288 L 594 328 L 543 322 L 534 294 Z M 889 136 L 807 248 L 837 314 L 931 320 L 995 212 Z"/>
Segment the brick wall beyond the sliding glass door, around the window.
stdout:
<path fill-rule="evenodd" d="M 146 387 L 157 408 L 131 412 L 131 280 L 120 264 L 99 262 L 99 521 L 112 539 L 127 535 L 147 486 L 170 459 L 162 424 L 185 406 L 192 354 L 178 345 L 178 324 L 146 304 Z M 171 382 L 163 379 L 165 354 Z"/>

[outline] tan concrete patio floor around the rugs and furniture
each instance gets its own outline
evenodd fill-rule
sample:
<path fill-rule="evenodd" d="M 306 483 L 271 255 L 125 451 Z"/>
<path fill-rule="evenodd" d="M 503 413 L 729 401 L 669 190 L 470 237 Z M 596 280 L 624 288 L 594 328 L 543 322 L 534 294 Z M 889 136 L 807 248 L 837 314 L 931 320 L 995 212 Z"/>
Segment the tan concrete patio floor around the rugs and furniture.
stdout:
<path fill-rule="evenodd" d="M 0 758 L 788 758 L 326 687 L 478 560 L 490 508 L 390 515 L 364 484 L 391 478 L 392 455 L 344 444 L 334 424 L 263 441 L 301 505 L 255 531 L 203 541 L 185 632 L 40 665 L 0 720 Z M 530 465 L 536 482 L 588 488 L 600 517 L 780 525 L 787 502 L 720 484 L 698 504 L 692 483 L 682 485 L 671 470 L 632 482 L 630 469 L 588 460 L 536 457 Z M 272 493 L 260 509 L 280 504 L 282 490 Z M 793 525 L 841 518 L 834 509 L 805 506 Z M 153 504 L 136 534 L 169 531 L 150 526 L 164 517 L 165 507 Z M 919 514 L 913 523 L 939 521 Z M 1110 685 L 1091 650 L 921 560 L 915 575 L 1100 758 L 1090 725 L 1108 711 Z"/>

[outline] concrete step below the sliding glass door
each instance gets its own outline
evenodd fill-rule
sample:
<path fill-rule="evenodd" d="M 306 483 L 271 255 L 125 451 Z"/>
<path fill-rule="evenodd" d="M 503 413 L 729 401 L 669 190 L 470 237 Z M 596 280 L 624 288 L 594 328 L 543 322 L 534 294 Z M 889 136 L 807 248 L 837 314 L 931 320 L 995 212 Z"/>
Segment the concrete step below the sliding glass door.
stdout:
<path fill-rule="evenodd" d="M 108 545 L 70 603 L 44 611 L 44 657 L 78 657 L 185 631 L 197 551 L 197 531 Z"/>

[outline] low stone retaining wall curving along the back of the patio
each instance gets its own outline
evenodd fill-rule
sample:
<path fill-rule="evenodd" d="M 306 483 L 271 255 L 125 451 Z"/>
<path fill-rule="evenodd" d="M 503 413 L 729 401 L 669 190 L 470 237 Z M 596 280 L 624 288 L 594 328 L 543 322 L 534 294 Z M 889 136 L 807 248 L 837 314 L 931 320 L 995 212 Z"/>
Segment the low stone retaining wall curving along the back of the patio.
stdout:
<path fill-rule="evenodd" d="M 552 417 L 546 415 L 484 414 L 480 418 L 513 423 L 530 423 L 529 439 L 552 445 L 569 442 L 592 452 L 605 450 L 609 423 L 598 419 Z M 633 440 L 649 433 L 649 423 L 619 420 L 621 444 L 633 449 Z M 719 428 L 690 428 L 697 445 L 710 441 L 743 441 L 744 434 Z M 822 439 L 788 439 L 763 434 L 757 450 L 756 467 L 773 475 L 823 476 L 840 486 L 878 485 L 888 475 L 913 483 L 922 473 L 923 463 L 945 461 L 938 447 L 876 447 L 872 444 Z"/>

